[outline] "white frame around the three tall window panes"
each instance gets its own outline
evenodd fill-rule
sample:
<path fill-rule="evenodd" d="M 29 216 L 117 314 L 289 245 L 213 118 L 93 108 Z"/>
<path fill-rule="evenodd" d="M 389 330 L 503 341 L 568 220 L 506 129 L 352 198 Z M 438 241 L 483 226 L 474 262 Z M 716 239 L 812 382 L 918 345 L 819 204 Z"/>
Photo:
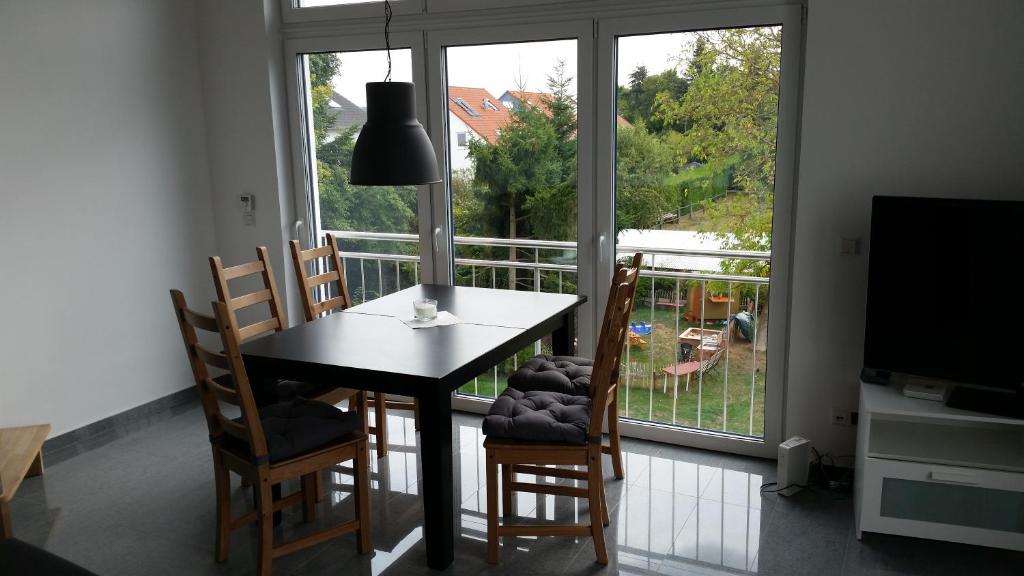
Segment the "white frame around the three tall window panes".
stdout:
<path fill-rule="evenodd" d="M 293 0 L 282 0 L 284 51 L 288 91 L 288 118 L 291 124 L 289 141 L 292 146 L 294 201 L 298 214 L 308 211 L 303 122 L 298 102 L 301 90 L 295 54 L 300 51 L 347 51 L 383 49 L 383 9 L 380 2 L 349 6 L 295 8 Z M 543 4 L 544 9 L 538 9 Z M 726 452 L 774 457 L 774 447 L 784 429 L 785 382 L 788 376 L 790 297 L 792 234 L 796 173 L 798 165 L 800 85 L 803 74 L 802 45 L 804 36 L 803 7 L 788 0 L 750 0 L 702 2 L 699 0 L 637 0 L 623 5 L 613 0 L 563 0 L 556 3 L 542 0 L 396 0 L 394 13 L 404 14 L 392 20 L 392 44 L 413 50 L 413 76 L 417 84 L 417 115 L 424 125 L 441 166 L 443 180 L 439 184 L 419 187 L 418 218 L 420 231 L 421 282 L 452 281 L 450 256 L 453 247 L 449 230 L 452 225 L 451 200 L 447 192 L 447 121 L 443 90 L 443 63 L 439 47 L 514 41 L 539 41 L 567 38 L 551 30 L 580 27 L 578 46 L 590 38 L 589 64 L 584 54 L 578 55 L 578 110 L 580 118 L 578 152 L 578 217 L 581 227 L 589 227 L 590 236 L 581 230 L 578 235 L 579 262 L 595 262 L 590 275 L 579 276 L 579 292 L 591 296 L 588 303 L 595 311 L 585 315 L 594 318 L 603 310 L 598 302 L 607 297 L 610 278 L 614 231 L 614 36 L 657 34 L 736 28 L 743 26 L 783 26 L 782 78 L 779 92 L 778 134 L 776 140 L 775 205 L 772 230 L 773 290 L 769 296 L 771 322 L 768 338 L 773 345 L 768 351 L 770 365 L 765 394 L 765 433 L 763 440 L 744 441 L 731 435 L 713 431 L 693 434 L 685 428 L 657 423 L 623 422 L 624 434 L 635 438 L 693 446 Z M 496 34 L 496 31 L 498 32 Z M 514 37 L 514 34 L 519 36 Z M 602 68 L 603 67 L 603 68 Z M 584 74 L 589 75 L 585 80 Z M 611 81 L 606 81 L 611 78 Z M 587 89 L 590 86 L 591 89 Z M 589 112 L 588 112 L 589 111 Z M 443 160 L 442 160 L 443 159 Z M 309 189 L 311 190 L 311 189 Z M 590 192 L 588 192 L 590 191 Z M 590 194 L 589 202 L 584 202 Z M 309 221 L 309 220 L 307 220 Z M 589 223 L 585 223 L 589 222 Z M 307 231 L 314 230 L 307 227 Z M 304 241 L 311 239 L 311 232 Z M 580 323 L 580 352 L 592 354 L 596 325 L 591 320 Z M 486 406 L 475 402 L 472 407 L 458 408 L 481 411 Z"/>

